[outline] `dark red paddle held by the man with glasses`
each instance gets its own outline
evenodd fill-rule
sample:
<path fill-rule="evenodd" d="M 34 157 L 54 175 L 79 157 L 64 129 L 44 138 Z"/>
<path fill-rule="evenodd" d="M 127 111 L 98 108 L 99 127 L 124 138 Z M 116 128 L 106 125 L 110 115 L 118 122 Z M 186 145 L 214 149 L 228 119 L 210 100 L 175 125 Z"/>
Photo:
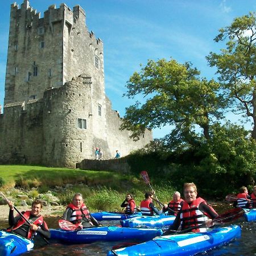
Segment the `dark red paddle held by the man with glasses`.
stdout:
<path fill-rule="evenodd" d="M 234 220 L 237 220 L 238 218 L 242 217 L 243 214 L 245 214 L 245 210 L 243 210 L 242 208 L 230 209 L 230 210 L 218 215 L 217 217 L 213 218 L 212 222 L 221 224 L 221 223 L 234 221 Z M 193 229 L 199 229 L 203 226 L 205 226 L 205 223 L 200 224 L 198 226 L 192 226 L 188 229 L 184 229 L 184 230 L 180 230 L 180 231 L 176 231 L 176 230 L 169 230 L 169 231 L 174 231 L 177 234 L 181 234 L 181 233 L 187 233 Z"/>

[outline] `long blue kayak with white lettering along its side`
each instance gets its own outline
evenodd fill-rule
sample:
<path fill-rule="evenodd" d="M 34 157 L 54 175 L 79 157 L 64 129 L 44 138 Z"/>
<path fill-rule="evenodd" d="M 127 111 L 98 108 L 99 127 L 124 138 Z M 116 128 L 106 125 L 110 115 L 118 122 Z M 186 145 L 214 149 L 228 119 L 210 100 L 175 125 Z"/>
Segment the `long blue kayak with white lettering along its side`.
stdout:
<path fill-rule="evenodd" d="M 92 243 L 96 241 L 139 240 L 148 241 L 163 234 L 162 229 L 131 229 L 118 226 L 101 226 L 75 231 L 50 229 L 51 239 L 68 243 Z"/>

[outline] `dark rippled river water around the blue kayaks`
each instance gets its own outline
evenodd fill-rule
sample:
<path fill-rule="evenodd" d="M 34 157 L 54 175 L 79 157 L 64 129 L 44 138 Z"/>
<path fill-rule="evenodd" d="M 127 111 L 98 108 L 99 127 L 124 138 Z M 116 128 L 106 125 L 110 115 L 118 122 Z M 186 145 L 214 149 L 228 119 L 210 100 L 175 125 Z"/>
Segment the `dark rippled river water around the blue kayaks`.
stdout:
<path fill-rule="evenodd" d="M 59 218 L 45 218 L 50 228 L 57 228 L 57 221 Z M 103 225 L 115 225 L 117 221 L 102 221 Z M 217 249 L 210 250 L 206 253 L 198 255 L 256 255 L 256 222 L 245 222 L 243 218 L 236 221 L 237 225 L 242 228 L 241 238 L 229 243 L 228 245 L 222 246 Z M 8 226 L 7 221 L 0 221 L 0 228 L 6 228 Z M 106 255 L 114 245 L 118 245 L 121 242 L 95 242 L 90 244 L 79 244 L 79 245 L 65 245 L 57 243 L 57 241 L 51 241 L 50 245 L 43 246 L 34 249 L 26 254 L 29 256 L 46 256 L 46 255 Z"/>

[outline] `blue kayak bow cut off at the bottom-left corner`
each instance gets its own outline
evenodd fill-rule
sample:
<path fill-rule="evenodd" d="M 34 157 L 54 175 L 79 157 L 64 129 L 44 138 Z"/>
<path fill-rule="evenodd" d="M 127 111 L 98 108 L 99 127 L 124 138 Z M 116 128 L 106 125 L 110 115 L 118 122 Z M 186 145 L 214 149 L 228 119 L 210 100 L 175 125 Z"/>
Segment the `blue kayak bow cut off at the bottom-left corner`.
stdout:
<path fill-rule="evenodd" d="M 0 231 L 0 255 L 20 255 L 32 250 L 34 242 L 14 233 Z"/>

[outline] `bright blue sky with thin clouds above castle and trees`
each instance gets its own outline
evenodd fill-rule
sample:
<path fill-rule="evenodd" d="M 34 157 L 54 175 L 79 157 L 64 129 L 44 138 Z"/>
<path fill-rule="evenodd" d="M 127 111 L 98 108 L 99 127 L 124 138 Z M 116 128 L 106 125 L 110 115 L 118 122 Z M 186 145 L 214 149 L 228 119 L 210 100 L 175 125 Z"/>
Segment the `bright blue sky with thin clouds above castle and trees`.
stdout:
<path fill-rule="evenodd" d="M 20 5 L 23 0 L 18 0 Z M 86 13 L 86 25 L 104 42 L 105 87 L 113 109 L 121 116 L 135 100 L 122 97 L 126 81 L 139 64 L 148 59 L 191 61 L 201 76 L 212 79 L 214 68 L 208 67 L 205 56 L 218 52 L 224 44 L 215 43 L 218 29 L 229 26 L 238 16 L 256 10 L 255 0 L 31 0 L 30 6 L 41 13 L 48 6 L 66 3 L 71 9 L 79 4 Z M 0 37 L 0 104 L 5 93 L 6 56 L 9 35 L 11 0 L 1 2 Z M 136 100 L 140 100 L 138 97 Z M 227 115 L 233 122 L 238 118 Z M 170 127 L 155 129 L 155 138 Z"/>

